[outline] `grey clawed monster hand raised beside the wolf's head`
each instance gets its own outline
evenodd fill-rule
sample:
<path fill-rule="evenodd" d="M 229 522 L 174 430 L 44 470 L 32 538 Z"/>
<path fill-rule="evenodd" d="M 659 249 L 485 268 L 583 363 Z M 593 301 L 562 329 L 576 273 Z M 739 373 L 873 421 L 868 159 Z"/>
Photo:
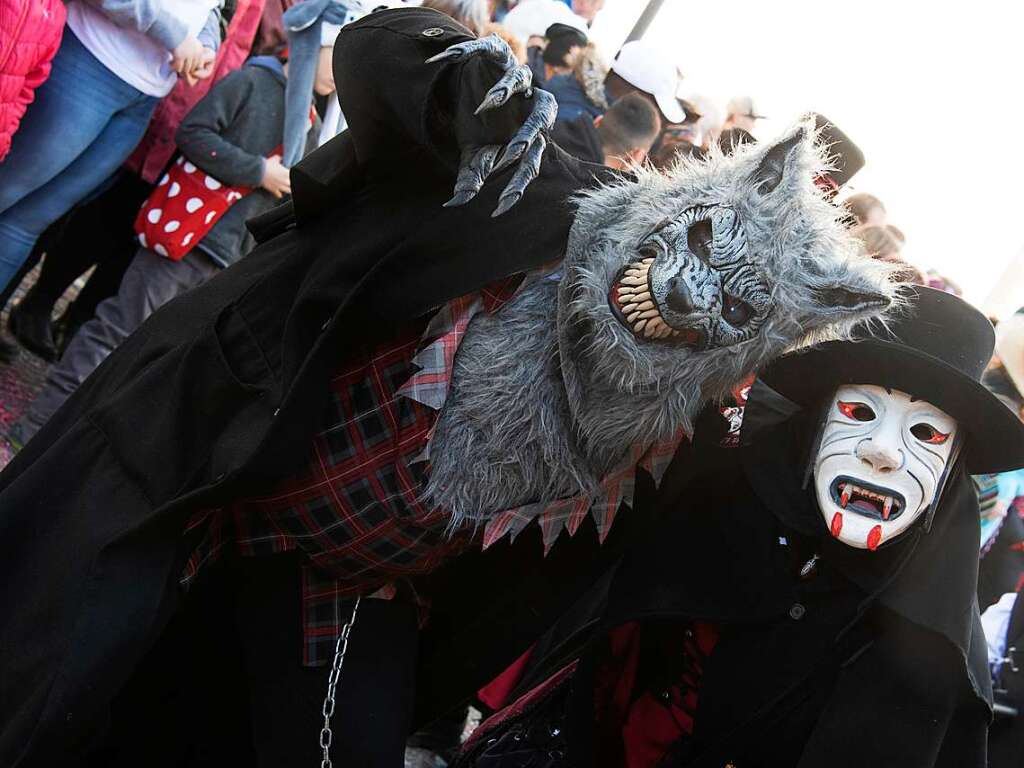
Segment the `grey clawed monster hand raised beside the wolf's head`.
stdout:
<path fill-rule="evenodd" d="M 455 182 L 455 196 L 444 207 L 465 205 L 476 197 L 488 176 L 517 164 L 515 173 L 498 200 L 498 208 L 490 214 L 501 216 L 519 202 L 526 187 L 541 172 L 541 160 L 547 145 L 545 133 L 555 124 L 558 104 L 550 93 L 534 88 L 534 73 L 525 65 L 516 61 L 508 43 L 497 35 L 453 45 L 428 58 L 427 63 L 462 61 L 470 56 L 483 56 L 504 71 L 476 108 L 476 115 L 504 106 L 513 97 L 530 99 L 532 108 L 519 131 L 507 144 L 461 147 L 462 158 Z"/>

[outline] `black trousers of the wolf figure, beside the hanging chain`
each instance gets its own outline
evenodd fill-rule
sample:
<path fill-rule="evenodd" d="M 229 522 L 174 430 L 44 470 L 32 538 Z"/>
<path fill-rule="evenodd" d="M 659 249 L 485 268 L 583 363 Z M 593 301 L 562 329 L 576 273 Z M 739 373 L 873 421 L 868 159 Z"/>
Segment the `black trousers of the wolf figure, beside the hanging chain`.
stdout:
<path fill-rule="evenodd" d="M 319 765 L 329 667 L 301 665 L 299 560 L 236 558 L 193 588 L 115 699 L 89 768 Z M 399 768 L 417 614 L 364 600 L 336 691 L 336 766 Z"/>

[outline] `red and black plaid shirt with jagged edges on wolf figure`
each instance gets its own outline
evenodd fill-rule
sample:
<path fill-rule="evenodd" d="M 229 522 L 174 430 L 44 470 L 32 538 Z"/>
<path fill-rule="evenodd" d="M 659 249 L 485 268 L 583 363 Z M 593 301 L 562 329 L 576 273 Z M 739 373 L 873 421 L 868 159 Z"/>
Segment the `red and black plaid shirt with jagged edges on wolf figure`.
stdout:
<path fill-rule="evenodd" d="M 427 573 L 470 546 L 452 535 L 447 514 L 419 500 L 429 469 L 429 443 L 444 404 L 456 351 L 478 311 L 495 311 L 514 294 L 506 281 L 442 307 L 398 339 L 349 356 L 331 381 L 330 412 L 313 437 L 312 459 L 270 494 L 196 515 L 205 526 L 184 571 L 189 586 L 224 547 L 247 556 L 300 550 L 303 664 L 330 663 L 356 595 L 392 597 L 409 578 Z M 426 340 L 426 341 L 424 341 Z M 633 501 L 636 467 L 659 479 L 683 434 L 634 447 L 591 496 L 510 510 L 483 529 L 484 547 L 530 522 L 541 526 L 545 552 L 562 530 L 574 535 L 588 513 L 603 542 L 618 507 Z M 413 593 L 416 599 L 415 592 Z"/>

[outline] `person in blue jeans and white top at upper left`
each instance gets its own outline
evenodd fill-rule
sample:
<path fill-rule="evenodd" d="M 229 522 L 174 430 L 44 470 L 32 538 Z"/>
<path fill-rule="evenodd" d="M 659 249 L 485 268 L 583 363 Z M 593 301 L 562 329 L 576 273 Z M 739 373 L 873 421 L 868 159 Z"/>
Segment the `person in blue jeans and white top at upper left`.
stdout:
<path fill-rule="evenodd" d="M 0 164 L 0 290 L 131 154 L 178 76 L 210 77 L 219 0 L 74 0 L 50 78 Z"/>

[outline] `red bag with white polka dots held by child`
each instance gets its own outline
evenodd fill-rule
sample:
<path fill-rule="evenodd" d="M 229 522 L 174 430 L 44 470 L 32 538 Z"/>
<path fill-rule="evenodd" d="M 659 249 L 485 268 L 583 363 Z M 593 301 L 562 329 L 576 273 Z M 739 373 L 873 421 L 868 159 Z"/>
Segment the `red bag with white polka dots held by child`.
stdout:
<path fill-rule="evenodd" d="M 142 204 L 135 233 L 143 248 L 181 261 L 251 186 L 226 186 L 179 157 Z"/>

